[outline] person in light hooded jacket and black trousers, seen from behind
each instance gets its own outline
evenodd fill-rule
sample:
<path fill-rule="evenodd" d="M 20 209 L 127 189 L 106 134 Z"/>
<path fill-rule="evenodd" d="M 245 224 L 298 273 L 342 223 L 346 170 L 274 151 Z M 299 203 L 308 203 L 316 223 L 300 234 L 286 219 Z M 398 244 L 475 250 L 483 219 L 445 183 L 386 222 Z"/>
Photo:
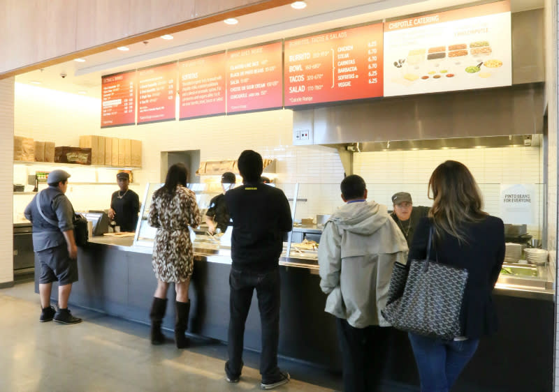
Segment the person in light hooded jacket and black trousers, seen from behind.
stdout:
<path fill-rule="evenodd" d="M 319 244 L 320 287 L 326 312 L 336 317 L 345 392 L 375 391 L 375 352 L 392 268 L 406 263 L 407 243 L 388 209 L 367 202 L 360 176 L 341 183 L 340 207 L 324 226 Z"/>

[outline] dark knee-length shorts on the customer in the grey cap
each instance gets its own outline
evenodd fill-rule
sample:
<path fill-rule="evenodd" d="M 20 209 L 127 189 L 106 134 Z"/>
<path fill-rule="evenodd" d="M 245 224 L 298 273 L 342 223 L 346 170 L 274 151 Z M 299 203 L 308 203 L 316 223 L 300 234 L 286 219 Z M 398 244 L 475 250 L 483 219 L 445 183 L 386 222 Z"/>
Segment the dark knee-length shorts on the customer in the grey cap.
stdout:
<path fill-rule="evenodd" d="M 37 252 L 41 265 L 39 283 L 58 282 L 60 286 L 78 281 L 78 260 L 71 259 L 66 244 Z"/>

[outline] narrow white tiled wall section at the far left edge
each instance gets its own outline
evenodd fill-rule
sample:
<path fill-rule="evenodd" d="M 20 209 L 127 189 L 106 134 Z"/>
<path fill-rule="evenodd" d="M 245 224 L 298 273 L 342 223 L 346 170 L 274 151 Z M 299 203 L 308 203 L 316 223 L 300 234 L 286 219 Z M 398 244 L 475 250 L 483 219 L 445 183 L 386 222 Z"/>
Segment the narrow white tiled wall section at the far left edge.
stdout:
<path fill-rule="evenodd" d="M 14 78 L 0 80 L 0 167 L 13 161 Z M 0 284 L 13 281 L 12 173 L 0 171 Z"/>

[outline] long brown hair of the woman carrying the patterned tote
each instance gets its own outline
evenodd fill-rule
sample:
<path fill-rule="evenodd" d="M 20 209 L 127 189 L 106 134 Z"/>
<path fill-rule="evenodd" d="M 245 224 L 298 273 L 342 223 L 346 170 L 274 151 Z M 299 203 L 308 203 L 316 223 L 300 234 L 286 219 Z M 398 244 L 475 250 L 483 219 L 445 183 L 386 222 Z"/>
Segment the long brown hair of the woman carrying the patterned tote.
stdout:
<path fill-rule="evenodd" d="M 456 160 L 441 163 L 431 174 L 428 196 L 434 200 L 429 217 L 437 238 L 450 234 L 467 243 L 464 223 L 479 222 L 488 215 L 482 211 L 483 200 L 474 176 Z"/>

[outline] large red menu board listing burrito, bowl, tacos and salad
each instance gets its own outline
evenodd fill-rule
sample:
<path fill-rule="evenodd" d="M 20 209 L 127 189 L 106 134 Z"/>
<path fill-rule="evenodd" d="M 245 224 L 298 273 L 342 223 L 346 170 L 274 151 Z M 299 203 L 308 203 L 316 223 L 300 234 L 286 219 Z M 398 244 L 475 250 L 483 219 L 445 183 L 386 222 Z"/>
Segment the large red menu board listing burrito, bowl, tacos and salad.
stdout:
<path fill-rule="evenodd" d="M 285 41 L 285 106 L 382 96 L 382 23 Z"/>

